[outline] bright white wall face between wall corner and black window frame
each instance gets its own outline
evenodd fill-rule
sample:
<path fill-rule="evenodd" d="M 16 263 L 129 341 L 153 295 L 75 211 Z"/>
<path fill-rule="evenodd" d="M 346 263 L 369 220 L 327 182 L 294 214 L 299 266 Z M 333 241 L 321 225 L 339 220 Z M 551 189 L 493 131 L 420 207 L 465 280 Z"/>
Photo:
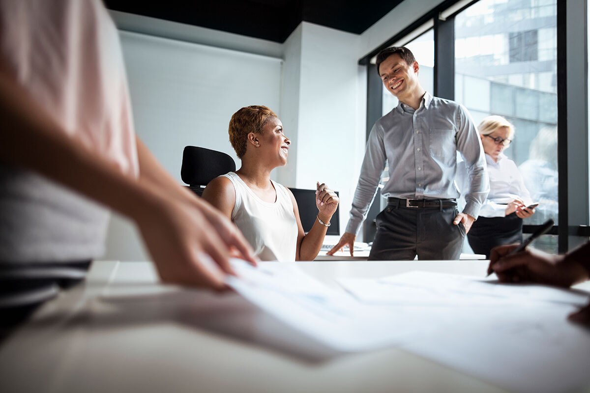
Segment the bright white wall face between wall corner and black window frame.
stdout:
<path fill-rule="evenodd" d="M 340 193 L 340 233 L 348 222 L 365 147 L 365 67 L 359 35 L 301 25 L 295 187 L 325 182 Z"/>

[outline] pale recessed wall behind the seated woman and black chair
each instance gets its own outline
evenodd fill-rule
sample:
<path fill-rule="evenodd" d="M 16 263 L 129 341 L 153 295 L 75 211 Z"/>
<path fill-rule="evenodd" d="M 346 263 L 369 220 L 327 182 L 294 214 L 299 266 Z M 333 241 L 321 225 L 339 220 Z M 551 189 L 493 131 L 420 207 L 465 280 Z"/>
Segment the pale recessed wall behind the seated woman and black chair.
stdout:
<path fill-rule="evenodd" d="M 121 38 L 137 134 L 178 181 L 185 146 L 235 158 L 231 115 L 252 104 L 278 108 L 279 58 L 129 32 Z"/>

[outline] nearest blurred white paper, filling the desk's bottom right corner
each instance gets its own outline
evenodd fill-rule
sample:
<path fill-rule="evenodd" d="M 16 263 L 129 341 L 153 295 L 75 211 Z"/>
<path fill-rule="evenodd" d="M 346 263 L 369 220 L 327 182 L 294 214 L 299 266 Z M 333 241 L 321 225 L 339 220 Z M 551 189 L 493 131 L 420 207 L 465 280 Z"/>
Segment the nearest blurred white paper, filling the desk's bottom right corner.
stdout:
<path fill-rule="evenodd" d="M 567 321 L 574 310 L 487 309 L 402 348 L 511 392 L 572 391 L 590 382 L 590 329 Z"/>

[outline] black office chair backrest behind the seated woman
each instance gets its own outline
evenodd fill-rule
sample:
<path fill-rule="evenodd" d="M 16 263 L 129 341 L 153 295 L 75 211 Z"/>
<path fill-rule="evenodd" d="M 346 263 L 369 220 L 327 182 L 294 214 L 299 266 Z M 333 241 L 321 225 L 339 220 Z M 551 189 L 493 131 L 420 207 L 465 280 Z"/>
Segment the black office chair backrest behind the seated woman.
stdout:
<path fill-rule="evenodd" d="M 235 161 L 221 151 L 186 146 L 182 152 L 182 181 L 198 196 L 209 181 L 228 172 L 235 172 Z"/>

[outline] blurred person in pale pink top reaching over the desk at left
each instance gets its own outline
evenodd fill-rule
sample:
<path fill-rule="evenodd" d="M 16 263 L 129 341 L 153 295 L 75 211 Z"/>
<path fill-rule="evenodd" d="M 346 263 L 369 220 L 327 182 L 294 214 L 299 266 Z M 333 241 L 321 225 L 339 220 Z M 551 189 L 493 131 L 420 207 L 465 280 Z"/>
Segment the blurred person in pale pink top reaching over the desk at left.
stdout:
<path fill-rule="evenodd" d="M 0 320 L 84 278 L 109 210 L 135 222 L 160 279 L 225 288 L 239 230 L 135 136 L 119 33 L 100 0 L 0 0 Z M 16 322 L 15 322 L 16 323 Z"/>

